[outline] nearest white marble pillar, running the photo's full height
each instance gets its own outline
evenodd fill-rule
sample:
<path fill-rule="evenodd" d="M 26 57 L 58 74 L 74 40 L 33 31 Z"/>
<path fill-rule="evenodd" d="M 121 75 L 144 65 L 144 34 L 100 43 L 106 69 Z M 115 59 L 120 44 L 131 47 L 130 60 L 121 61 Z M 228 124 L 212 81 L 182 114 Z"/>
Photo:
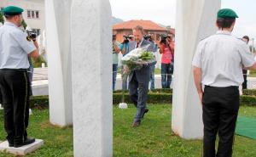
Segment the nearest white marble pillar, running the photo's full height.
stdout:
<path fill-rule="evenodd" d="M 75 157 L 112 156 L 112 16 L 108 0 L 73 0 Z"/>

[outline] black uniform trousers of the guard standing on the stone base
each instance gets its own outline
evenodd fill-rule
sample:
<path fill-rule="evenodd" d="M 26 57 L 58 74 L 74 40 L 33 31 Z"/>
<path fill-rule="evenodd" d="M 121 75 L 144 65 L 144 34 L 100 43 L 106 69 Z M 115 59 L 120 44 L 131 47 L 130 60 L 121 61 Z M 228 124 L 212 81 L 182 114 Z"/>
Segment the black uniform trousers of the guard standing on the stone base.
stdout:
<path fill-rule="evenodd" d="M 3 94 L 4 128 L 9 143 L 22 143 L 27 137 L 29 118 L 28 76 L 26 70 L 0 70 Z"/>

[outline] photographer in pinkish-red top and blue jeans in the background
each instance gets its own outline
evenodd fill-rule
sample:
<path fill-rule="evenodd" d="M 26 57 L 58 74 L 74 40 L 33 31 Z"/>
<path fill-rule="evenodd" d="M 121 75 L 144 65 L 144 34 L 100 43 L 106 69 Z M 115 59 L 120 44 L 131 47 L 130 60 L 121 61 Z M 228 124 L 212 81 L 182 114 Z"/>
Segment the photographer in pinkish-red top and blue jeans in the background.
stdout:
<path fill-rule="evenodd" d="M 173 74 L 174 43 L 172 35 L 163 35 L 159 43 L 161 58 L 161 84 L 162 88 L 170 88 Z"/>

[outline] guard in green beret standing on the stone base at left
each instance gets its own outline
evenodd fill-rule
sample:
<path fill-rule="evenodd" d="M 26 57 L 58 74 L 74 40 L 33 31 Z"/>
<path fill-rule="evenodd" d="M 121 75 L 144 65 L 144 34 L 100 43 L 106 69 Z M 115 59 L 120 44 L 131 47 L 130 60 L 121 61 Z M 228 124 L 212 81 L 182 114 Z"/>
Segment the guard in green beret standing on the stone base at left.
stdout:
<path fill-rule="evenodd" d="M 3 94 L 4 128 L 10 147 L 33 143 L 26 128 L 29 118 L 27 56 L 38 58 L 38 43 L 19 27 L 22 8 L 3 8 L 6 22 L 0 27 L 0 88 Z"/>

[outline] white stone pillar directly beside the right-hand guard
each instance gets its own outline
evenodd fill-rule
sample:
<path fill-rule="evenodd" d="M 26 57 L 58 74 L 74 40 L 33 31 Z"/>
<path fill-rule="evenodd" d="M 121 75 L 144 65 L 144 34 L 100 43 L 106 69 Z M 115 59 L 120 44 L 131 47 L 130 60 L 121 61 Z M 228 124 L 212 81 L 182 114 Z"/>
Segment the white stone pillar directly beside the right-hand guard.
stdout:
<path fill-rule="evenodd" d="M 197 43 L 217 31 L 220 0 L 178 0 L 172 131 L 186 139 L 203 137 L 202 109 L 195 89 L 191 62 Z"/>

